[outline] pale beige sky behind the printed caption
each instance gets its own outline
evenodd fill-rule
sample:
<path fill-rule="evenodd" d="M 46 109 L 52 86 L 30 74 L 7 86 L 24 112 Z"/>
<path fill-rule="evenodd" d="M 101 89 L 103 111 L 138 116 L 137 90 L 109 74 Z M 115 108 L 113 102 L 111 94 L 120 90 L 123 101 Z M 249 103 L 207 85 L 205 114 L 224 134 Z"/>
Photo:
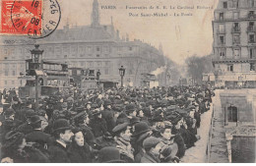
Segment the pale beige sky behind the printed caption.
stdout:
<path fill-rule="evenodd" d="M 58 0 L 62 18 L 59 28 L 67 21 L 72 26 L 91 24 L 91 13 L 94 0 Z M 129 35 L 130 40 L 141 39 L 159 48 L 161 43 L 163 53 L 169 59 L 182 65 L 185 59 L 192 55 L 204 56 L 212 53 L 213 28 L 212 21 L 218 0 L 97 0 L 99 3 L 100 24 L 109 25 L 111 16 L 114 27 L 120 35 Z M 213 9 L 196 9 L 197 6 L 213 7 Z M 115 10 L 101 9 L 101 6 L 116 6 Z M 168 10 L 126 9 L 129 7 L 166 6 Z M 191 7 L 195 9 L 172 9 Z M 129 13 L 139 14 L 168 13 L 168 17 L 129 17 Z M 193 16 L 173 17 L 174 13 L 190 13 Z"/>

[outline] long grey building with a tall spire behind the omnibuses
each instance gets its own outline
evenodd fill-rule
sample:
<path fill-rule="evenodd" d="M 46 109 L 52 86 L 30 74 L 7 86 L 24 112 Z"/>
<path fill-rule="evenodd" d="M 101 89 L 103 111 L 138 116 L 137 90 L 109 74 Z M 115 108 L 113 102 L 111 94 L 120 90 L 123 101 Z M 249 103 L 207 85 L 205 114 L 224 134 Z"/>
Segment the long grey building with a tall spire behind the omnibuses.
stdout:
<path fill-rule="evenodd" d="M 66 25 L 39 40 L 26 36 L 0 37 L 0 89 L 18 87 L 20 73 L 25 73 L 25 60 L 31 57 L 34 44 L 44 50 L 42 58 L 67 63 L 70 68 L 99 70 L 100 79 L 121 82 L 119 68 L 124 66 L 124 85 L 141 85 L 141 74 L 164 66 L 160 49 L 139 39 L 120 37 L 112 23 L 100 25 L 97 0 L 94 0 L 92 23 L 89 26 Z"/>

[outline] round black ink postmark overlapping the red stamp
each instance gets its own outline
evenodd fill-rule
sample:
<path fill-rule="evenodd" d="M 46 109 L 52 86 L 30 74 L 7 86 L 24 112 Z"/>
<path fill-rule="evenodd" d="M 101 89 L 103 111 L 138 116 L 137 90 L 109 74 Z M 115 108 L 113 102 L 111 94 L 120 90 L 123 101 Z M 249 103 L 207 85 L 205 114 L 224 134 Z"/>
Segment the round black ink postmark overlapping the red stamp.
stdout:
<path fill-rule="evenodd" d="M 11 20 L 19 34 L 46 37 L 58 27 L 61 10 L 57 0 L 15 0 Z"/>

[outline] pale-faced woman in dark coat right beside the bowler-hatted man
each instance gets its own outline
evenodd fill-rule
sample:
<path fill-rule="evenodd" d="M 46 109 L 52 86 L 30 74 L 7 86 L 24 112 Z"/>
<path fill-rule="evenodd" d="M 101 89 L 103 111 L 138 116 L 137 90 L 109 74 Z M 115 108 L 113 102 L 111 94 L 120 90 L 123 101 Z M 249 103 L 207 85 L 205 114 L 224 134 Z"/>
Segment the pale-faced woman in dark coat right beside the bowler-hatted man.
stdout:
<path fill-rule="evenodd" d="M 75 129 L 73 133 L 74 138 L 72 138 L 72 143 L 67 150 L 70 161 L 72 163 L 92 162 L 94 158 L 92 148 L 85 141 L 83 131 L 81 129 Z"/>

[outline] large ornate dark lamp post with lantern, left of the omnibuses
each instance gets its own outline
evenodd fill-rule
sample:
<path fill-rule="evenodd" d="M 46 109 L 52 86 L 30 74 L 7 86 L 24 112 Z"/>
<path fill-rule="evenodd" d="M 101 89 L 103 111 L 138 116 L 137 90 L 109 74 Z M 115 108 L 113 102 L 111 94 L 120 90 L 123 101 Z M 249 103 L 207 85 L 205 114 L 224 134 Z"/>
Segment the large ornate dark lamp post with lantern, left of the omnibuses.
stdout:
<path fill-rule="evenodd" d="M 41 70 L 42 68 L 42 53 L 43 50 L 39 50 L 39 45 L 34 45 L 34 49 L 31 50 L 32 53 L 32 63 L 33 70 Z M 35 74 L 35 109 L 38 107 L 38 76 Z"/>

